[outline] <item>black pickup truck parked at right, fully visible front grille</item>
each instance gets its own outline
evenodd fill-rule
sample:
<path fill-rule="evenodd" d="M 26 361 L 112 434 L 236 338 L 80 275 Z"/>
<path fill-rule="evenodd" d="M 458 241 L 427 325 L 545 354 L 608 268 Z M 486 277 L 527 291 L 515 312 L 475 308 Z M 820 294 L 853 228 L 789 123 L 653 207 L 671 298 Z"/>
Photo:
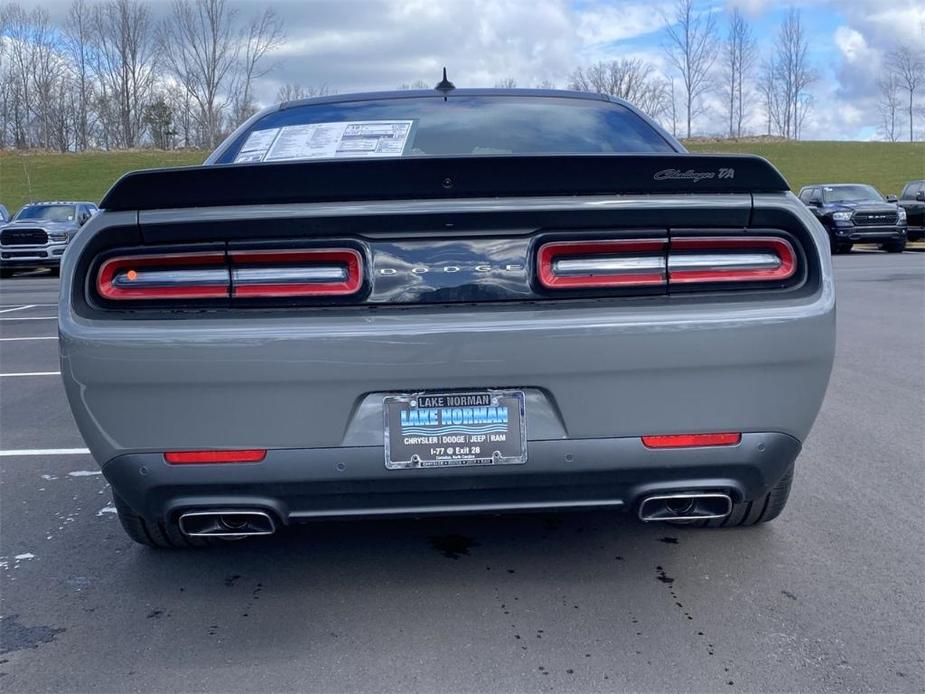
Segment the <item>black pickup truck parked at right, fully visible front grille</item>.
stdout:
<path fill-rule="evenodd" d="M 890 253 L 906 248 L 906 210 L 862 183 L 804 186 L 800 200 L 822 222 L 832 253 L 847 253 L 855 243 L 876 243 Z"/>

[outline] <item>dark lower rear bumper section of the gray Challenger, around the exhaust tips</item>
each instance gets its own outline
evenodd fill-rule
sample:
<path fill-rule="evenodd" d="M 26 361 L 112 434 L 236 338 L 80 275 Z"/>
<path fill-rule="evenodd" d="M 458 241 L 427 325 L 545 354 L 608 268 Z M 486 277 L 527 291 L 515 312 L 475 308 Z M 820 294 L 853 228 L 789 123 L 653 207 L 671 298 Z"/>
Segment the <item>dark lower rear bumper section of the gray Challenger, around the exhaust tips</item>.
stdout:
<path fill-rule="evenodd" d="M 389 470 L 381 446 L 271 450 L 260 463 L 169 465 L 129 454 L 103 474 L 152 522 L 208 509 L 266 511 L 284 524 L 320 518 L 636 508 L 645 496 L 722 491 L 735 502 L 767 493 L 800 443 L 744 434 L 735 446 L 655 450 L 638 437 L 528 442 L 524 464 Z"/>

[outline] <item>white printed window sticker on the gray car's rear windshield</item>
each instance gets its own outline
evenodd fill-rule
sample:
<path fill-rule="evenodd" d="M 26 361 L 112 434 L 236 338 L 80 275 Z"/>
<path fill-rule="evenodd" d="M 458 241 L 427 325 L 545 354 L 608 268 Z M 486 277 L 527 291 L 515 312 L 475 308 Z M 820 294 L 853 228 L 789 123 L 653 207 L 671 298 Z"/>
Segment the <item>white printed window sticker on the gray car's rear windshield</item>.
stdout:
<path fill-rule="evenodd" d="M 251 133 L 235 162 L 399 157 L 414 121 L 346 121 L 289 125 Z"/>

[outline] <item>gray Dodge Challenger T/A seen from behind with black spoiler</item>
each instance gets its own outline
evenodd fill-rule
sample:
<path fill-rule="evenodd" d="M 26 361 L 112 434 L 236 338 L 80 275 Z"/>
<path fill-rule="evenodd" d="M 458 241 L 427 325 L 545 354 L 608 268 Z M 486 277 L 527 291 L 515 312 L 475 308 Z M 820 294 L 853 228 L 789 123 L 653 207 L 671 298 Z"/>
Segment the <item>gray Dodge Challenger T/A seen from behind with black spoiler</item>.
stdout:
<path fill-rule="evenodd" d="M 828 240 L 787 182 L 597 94 L 285 103 L 101 208 L 64 257 L 61 372 L 146 545 L 466 512 L 763 523 L 829 379 Z"/>

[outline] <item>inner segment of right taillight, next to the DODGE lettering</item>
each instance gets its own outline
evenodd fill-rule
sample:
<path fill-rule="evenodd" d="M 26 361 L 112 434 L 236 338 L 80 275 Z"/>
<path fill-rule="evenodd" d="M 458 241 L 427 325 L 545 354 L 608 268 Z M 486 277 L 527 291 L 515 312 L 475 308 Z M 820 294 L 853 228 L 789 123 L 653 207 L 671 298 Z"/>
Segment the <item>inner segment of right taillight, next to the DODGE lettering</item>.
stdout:
<path fill-rule="evenodd" d="M 537 275 L 547 289 L 664 285 L 666 243 L 666 239 L 544 243 L 537 251 Z"/>

